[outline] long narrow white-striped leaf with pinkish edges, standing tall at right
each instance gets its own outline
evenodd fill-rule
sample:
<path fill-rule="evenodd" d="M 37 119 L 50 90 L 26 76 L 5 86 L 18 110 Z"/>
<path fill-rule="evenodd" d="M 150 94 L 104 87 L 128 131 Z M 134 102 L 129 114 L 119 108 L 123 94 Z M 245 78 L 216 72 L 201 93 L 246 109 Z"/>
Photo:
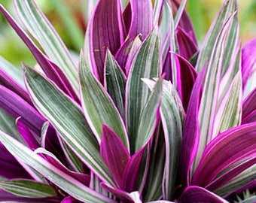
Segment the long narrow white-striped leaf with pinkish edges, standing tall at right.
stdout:
<path fill-rule="evenodd" d="M 221 71 L 224 65 L 224 57 L 230 47 L 227 46 L 227 35 L 230 32 L 233 23 L 234 13 L 224 24 L 218 38 L 215 41 L 209 64 L 206 66 L 206 77 L 203 83 L 202 101 L 200 104 L 199 121 L 200 121 L 200 142 L 197 156 L 194 162 L 194 168 L 197 168 L 203 150 L 209 141 L 212 140 L 213 125 L 215 120 L 215 111 L 218 105 L 218 92 L 221 81 Z M 218 60 L 216 60 L 218 59 Z"/>

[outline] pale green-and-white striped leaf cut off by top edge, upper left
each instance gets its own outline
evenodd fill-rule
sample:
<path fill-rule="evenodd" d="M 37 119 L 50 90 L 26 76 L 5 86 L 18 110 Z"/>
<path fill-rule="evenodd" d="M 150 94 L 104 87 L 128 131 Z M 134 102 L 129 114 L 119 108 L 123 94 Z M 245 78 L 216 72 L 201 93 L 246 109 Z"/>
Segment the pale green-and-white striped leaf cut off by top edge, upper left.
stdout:
<path fill-rule="evenodd" d="M 50 25 L 34 1 L 16 0 L 15 5 L 17 14 L 26 29 L 38 41 L 47 56 L 62 68 L 76 92 L 79 92 L 78 68 L 75 66 L 75 62 L 72 61 L 69 50 L 67 50 L 66 45 L 59 38 L 55 29 L 53 29 L 53 26 Z"/>

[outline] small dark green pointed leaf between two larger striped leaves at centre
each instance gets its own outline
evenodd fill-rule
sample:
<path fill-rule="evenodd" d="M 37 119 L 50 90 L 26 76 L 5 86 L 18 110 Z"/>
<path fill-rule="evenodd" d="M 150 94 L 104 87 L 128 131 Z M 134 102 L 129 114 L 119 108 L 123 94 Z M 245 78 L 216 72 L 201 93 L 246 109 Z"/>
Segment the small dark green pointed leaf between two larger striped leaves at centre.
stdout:
<path fill-rule="evenodd" d="M 121 71 L 120 66 L 117 64 L 111 52 L 107 50 L 105 60 L 105 86 L 122 118 L 124 118 L 125 83 L 126 77 L 123 71 Z"/>

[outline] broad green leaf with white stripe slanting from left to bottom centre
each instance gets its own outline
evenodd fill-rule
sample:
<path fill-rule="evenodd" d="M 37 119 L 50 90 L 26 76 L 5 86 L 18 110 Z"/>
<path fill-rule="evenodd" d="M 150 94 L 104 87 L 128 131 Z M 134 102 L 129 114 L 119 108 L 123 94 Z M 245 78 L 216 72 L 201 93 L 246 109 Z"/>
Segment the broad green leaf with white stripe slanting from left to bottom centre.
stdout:
<path fill-rule="evenodd" d="M 99 144 L 84 119 L 81 108 L 41 74 L 23 66 L 27 89 L 38 111 L 50 121 L 81 161 L 103 180 L 114 185 L 111 174 L 99 155 Z"/>

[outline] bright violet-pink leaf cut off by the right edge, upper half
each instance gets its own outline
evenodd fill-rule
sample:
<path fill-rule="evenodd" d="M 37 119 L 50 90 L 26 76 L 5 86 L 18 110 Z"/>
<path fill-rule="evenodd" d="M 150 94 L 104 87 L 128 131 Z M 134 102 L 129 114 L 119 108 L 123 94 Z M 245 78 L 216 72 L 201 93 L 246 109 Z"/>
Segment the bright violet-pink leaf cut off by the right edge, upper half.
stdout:
<path fill-rule="evenodd" d="M 242 88 L 245 89 L 246 83 L 253 72 L 256 62 L 256 38 L 248 41 L 242 47 Z"/>

